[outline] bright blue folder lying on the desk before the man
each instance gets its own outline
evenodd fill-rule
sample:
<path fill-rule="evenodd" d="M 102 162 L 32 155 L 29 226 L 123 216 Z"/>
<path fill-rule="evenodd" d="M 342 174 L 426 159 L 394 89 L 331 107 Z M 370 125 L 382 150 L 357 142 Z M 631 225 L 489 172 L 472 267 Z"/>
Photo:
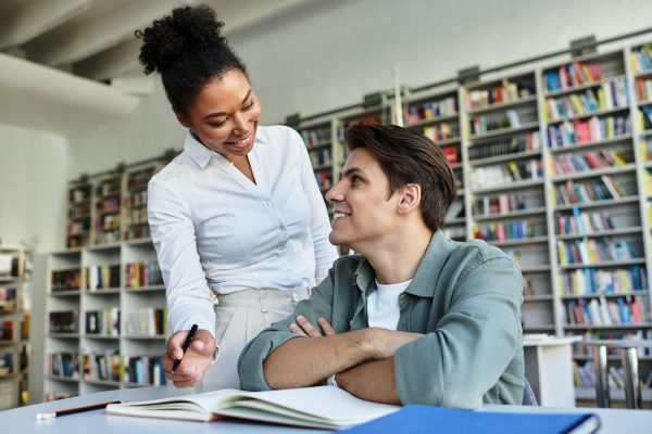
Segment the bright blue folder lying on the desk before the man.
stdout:
<path fill-rule="evenodd" d="M 600 419 L 593 413 L 490 412 L 414 405 L 339 433 L 589 434 L 599 427 Z"/>

